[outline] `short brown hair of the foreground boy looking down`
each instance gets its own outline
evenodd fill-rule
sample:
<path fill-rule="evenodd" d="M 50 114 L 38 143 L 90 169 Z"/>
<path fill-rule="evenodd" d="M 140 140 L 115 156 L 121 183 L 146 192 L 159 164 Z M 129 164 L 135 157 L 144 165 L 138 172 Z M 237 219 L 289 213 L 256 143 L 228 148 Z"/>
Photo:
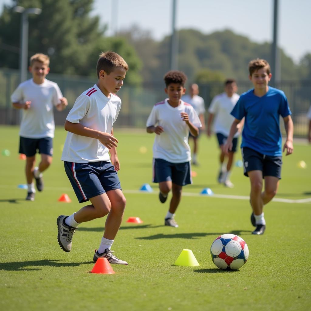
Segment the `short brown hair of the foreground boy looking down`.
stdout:
<path fill-rule="evenodd" d="M 107 74 L 114 71 L 116 67 L 122 67 L 126 71 L 128 71 L 128 64 L 126 61 L 115 52 L 102 52 L 99 55 L 97 65 L 96 65 L 96 73 L 99 78 L 99 72 L 104 70 Z"/>

